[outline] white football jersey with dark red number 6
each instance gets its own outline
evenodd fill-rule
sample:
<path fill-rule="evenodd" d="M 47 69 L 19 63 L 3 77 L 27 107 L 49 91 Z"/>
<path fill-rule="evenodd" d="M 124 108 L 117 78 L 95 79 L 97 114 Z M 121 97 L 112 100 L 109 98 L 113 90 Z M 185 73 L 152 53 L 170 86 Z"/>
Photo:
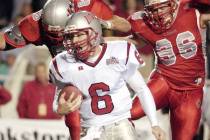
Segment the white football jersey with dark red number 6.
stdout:
<path fill-rule="evenodd" d="M 95 63 L 75 61 L 63 52 L 51 61 L 50 73 L 55 81 L 72 84 L 83 93 L 82 126 L 102 126 L 130 118 L 132 99 L 126 79 L 143 65 L 133 44 L 109 41 Z"/>

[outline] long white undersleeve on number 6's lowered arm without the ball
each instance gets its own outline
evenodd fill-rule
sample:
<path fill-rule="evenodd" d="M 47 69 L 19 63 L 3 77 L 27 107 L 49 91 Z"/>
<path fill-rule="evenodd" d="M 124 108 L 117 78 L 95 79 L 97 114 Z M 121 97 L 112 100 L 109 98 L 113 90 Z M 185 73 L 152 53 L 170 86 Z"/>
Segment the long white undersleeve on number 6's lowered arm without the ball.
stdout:
<path fill-rule="evenodd" d="M 141 101 L 145 114 L 148 116 L 152 126 L 157 126 L 156 106 L 152 94 L 147 87 L 142 75 L 136 70 L 126 82 L 134 90 Z"/>

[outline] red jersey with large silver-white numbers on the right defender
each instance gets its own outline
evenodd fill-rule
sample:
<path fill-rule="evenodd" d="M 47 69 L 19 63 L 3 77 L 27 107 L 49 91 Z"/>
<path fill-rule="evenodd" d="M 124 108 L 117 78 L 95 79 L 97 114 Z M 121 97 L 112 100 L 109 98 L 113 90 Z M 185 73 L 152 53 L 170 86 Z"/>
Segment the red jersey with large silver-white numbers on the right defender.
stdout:
<path fill-rule="evenodd" d="M 165 33 L 156 34 L 143 21 L 142 11 L 129 17 L 132 30 L 152 44 L 156 69 L 178 90 L 201 88 L 205 79 L 199 12 L 180 1 L 177 17 Z"/>

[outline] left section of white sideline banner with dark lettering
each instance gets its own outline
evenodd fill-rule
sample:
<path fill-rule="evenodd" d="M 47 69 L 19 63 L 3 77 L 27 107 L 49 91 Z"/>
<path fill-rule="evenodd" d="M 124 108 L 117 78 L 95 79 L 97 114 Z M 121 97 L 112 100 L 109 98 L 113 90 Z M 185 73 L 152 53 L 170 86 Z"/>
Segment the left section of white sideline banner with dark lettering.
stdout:
<path fill-rule="evenodd" d="M 63 120 L 0 119 L 0 140 L 69 140 Z"/>

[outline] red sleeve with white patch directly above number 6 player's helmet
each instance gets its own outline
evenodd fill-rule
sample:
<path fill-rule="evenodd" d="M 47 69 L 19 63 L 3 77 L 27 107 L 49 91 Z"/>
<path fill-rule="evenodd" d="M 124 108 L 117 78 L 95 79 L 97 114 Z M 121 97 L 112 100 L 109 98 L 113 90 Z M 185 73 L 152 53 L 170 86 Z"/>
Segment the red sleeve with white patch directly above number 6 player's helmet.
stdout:
<path fill-rule="evenodd" d="M 102 0 L 74 0 L 74 6 L 76 11 L 89 11 L 104 20 L 113 17 L 112 10 Z"/>

